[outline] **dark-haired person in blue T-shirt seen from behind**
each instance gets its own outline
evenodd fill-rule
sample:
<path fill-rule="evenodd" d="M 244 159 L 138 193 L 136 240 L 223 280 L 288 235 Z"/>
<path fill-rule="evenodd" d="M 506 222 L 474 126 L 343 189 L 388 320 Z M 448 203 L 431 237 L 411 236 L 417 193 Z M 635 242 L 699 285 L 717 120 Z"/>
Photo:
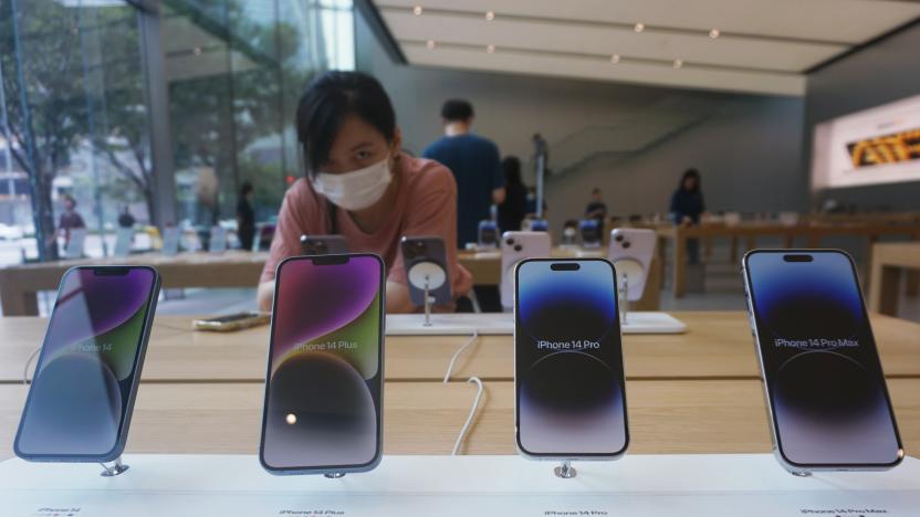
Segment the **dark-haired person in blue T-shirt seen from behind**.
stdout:
<path fill-rule="evenodd" d="M 450 99 L 441 107 L 445 136 L 422 152 L 447 166 L 457 180 L 457 245 L 477 242 L 479 222 L 490 218 L 490 207 L 504 202 L 504 177 L 499 147 L 471 133 L 473 106 Z"/>

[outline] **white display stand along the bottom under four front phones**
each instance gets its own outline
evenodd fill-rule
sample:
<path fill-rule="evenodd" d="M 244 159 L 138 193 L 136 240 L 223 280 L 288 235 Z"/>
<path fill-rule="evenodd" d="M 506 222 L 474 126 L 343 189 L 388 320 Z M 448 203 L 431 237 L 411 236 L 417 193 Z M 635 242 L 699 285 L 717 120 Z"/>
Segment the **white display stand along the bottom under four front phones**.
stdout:
<path fill-rule="evenodd" d="M 632 455 L 576 462 L 516 456 L 387 456 L 341 479 L 276 477 L 254 456 L 129 455 L 94 464 L 0 464 L 4 516 L 745 516 L 914 517 L 920 462 L 889 472 L 794 477 L 769 455 Z"/>

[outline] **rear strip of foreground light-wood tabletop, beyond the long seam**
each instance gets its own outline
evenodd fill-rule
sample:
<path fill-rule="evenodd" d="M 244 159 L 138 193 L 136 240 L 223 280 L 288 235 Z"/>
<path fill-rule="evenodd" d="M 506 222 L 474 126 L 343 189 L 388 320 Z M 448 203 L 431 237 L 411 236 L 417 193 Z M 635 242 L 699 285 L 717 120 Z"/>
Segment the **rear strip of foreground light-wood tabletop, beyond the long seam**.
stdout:
<path fill-rule="evenodd" d="M 684 321 L 682 335 L 624 336 L 628 379 L 757 379 L 748 317 L 742 312 L 673 313 Z M 191 317 L 161 316 L 144 362 L 143 382 L 261 382 L 265 378 L 268 327 L 239 333 L 191 331 Z M 44 335 L 46 320 L 0 318 L 0 383 L 20 382 L 29 355 Z M 878 349 L 889 378 L 920 377 L 920 325 L 872 316 Z M 390 381 L 443 378 L 464 336 L 390 336 L 386 376 Z M 463 352 L 454 379 L 478 376 L 512 380 L 511 336 L 482 336 Z"/>

